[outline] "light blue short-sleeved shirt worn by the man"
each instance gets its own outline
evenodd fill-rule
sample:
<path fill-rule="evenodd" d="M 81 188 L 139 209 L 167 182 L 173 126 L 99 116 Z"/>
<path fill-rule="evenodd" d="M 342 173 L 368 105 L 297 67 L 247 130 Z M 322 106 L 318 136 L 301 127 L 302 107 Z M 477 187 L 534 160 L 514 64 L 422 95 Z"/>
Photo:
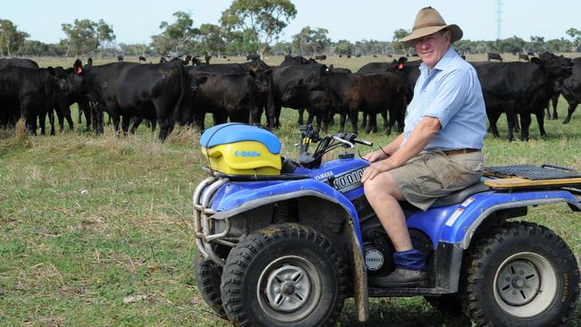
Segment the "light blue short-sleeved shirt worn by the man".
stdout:
<path fill-rule="evenodd" d="M 450 49 L 428 72 L 425 63 L 414 88 L 414 98 L 408 105 L 404 141 L 425 117 L 440 120 L 442 130 L 425 150 L 482 148 L 486 135 L 486 108 L 476 70 Z M 403 145 L 402 143 L 402 145 Z"/>

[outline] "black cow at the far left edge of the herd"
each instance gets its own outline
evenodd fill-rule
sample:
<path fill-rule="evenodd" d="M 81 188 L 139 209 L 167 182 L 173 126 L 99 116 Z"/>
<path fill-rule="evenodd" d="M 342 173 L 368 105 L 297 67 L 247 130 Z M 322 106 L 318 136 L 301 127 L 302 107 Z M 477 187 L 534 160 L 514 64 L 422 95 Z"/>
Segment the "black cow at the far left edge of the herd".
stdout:
<path fill-rule="evenodd" d="M 64 80 L 55 76 L 55 70 L 48 68 L 23 68 L 4 66 L 0 70 L 0 103 L 6 104 L 0 113 L 3 124 L 12 124 L 14 108 L 26 120 L 31 134 L 36 134 L 37 117 L 41 119 L 41 133 L 45 134 L 44 119 L 52 111 L 55 95 L 66 90 Z M 51 135 L 55 134 L 54 116 L 51 118 Z"/>

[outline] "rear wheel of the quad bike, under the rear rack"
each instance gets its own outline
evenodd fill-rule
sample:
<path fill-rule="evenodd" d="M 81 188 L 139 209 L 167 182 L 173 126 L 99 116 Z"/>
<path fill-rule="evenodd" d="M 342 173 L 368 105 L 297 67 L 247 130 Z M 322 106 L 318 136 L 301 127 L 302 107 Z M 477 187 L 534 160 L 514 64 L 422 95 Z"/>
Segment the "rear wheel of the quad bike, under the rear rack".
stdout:
<path fill-rule="evenodd" d="M 462 302 L 473 323 L 565 323 L 579 297 L 577 260 L 565 241 L 531 222 L 507 222 L 487 235 L 471 247 L 463 269 Z"/>

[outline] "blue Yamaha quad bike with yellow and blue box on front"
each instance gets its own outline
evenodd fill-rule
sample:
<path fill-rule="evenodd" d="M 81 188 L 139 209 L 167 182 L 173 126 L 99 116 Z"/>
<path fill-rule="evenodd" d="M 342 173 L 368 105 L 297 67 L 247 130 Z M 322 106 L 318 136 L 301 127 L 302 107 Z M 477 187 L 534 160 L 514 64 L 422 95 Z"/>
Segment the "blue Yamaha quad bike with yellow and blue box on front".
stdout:
<path fill-rule="evenodd" d="M 360 179 L 368 163 L 349 153 L 355 144 L 371 146 L 301 126 L 295 162 L 257 126 L 228 123 L 203 133 L 210 176 L 192 199 L 195 272 L 216 314 L 242 326 L 327 326 L 345 298 L 355 298 L 365 322 L 369 298 L 418 295 L 479 326 L 560 325 L 575 312 L 571 249 L 546 227 L 511 220 L 558 202 L 581 211 L 579 175 L 554 166 L 489 167 L 479 183 L 425 212 L 401 203 L 429 286 L 381 289 L 367 277 L 394 270 L 393 247 L 366 201 Z M 335 148 L 348 150 L 323 162 Z M 532 179 L 506 178 L 513 172 Z"/>

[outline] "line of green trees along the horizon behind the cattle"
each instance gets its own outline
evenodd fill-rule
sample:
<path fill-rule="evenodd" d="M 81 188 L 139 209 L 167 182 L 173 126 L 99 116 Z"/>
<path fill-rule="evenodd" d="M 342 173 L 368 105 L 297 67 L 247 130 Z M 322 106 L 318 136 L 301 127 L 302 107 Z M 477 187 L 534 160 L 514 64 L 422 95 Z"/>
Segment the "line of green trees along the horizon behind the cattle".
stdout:
<path fill-rule="evenodd" d="M 189 55 L 410 55 L 400 42 L 408 29 L 393 32 L 392 41 L 362 39 L 333 41 L 328 30 L 306 26 L 291 41 L 281 41 L 281 32 L 297 15 L 290 0 L 233 0 L 217 24 L 195 26 L 189 13 L 173 13 L 162 21 L 161 32 L 149 44 L 118 43 L 114 26 L 104 20 L 74 20 L 63 23 L 65 38 L 56 44 L 30 40 L 13 21 L 0 19 L 0 56 L 179 56 Z M 500 40 L 468 40 L 455 43 L 460 53 L 539 53 L 581 51 L 581 31 L 571 28 L 568 38 L 525 40 L 514 36 Z"/>

